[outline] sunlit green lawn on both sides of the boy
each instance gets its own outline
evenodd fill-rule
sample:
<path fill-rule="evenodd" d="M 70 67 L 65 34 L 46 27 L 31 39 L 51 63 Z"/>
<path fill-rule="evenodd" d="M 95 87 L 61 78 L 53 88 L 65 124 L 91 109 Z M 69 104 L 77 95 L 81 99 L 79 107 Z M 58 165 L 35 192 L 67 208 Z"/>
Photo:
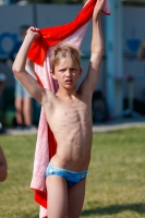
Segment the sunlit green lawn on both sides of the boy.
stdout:
<path fill-rule="evenodd" d="M 9 175 L 0 183 L 0 218 L 38 218 L 29 190 L 36 135 L 0 135 Z M 145 129 L 94 134 L 81 218 L 145 217 Z"/>

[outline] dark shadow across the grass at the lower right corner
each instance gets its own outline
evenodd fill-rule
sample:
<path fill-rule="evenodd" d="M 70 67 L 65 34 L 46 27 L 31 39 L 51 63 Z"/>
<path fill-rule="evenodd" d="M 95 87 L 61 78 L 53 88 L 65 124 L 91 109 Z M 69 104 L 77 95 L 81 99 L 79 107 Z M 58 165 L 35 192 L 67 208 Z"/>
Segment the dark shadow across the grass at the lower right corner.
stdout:
<path fill-rule="evenodd" d="M 136 203 L 136 204 L 126 204 L 126 205 L 110 205 L 108 207 L 98 207 L 98 208 L 90 208 L 90 209 L 84 209 L 81 214 L 81 216 L 89 217 L 93 215 L 114 215 L 119 214 L 124 210 L 133 210 L 138 214 L 145 214 L 145 204 Z"/>

